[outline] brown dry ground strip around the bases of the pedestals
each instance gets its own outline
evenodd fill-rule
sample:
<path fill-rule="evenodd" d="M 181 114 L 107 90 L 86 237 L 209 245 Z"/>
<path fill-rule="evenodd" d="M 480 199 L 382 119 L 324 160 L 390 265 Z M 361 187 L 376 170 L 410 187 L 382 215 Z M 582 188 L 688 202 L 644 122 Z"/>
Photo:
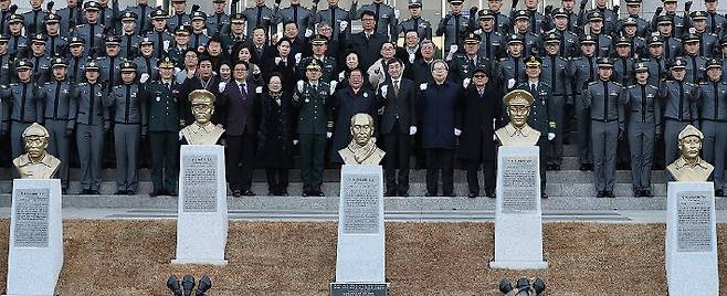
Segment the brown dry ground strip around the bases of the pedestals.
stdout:
<path fill-rule="evenodd" d="M 545 224 L 550 268 L 493 271 L 493 223 L 387 223 L 391 295 L 498 295 L 502 277 L 540 276 L 548 295 L 666 295 L 664 225 Z M 0 221 L 0 290 L 8 220 Z M 208 274 L 208 295 L 327 295 L 334 222 L 231 222 L 228 266 L 172 266 L 176 222 L 64 221 L 61 295 L 168 295 L 170 274 Z M 727 237 L 727 226 L 718 228 Z M 719 269 L 727 247 L 719 242 Z M 723 278 L 720 289 L 727 290 Z"/>

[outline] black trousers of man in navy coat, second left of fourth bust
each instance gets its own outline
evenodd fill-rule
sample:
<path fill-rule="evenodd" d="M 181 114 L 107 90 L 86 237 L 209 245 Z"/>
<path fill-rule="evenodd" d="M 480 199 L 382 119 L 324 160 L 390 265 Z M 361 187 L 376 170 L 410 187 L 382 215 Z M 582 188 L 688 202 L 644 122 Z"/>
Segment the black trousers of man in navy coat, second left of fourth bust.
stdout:
<path fill-rule="evenodd" d="M 436 195 L 442 172 L 442 193 L 454 194 L 454 149 L 426 148 L 426 192 Z"/>

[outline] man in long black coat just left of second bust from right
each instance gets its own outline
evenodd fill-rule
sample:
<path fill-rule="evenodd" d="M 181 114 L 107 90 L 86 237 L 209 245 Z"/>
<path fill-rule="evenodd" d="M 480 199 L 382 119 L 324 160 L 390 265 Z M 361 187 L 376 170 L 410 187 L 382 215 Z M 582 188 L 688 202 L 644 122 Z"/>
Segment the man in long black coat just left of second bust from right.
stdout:
<path fill-rule="evenodd" d="M 480 195 L 477 171 L 482 165 L 485 193 L 495 198 L 495 124 L 502 125 L 499 86 L 489 78 L 491 68 L 484 64 L 475 68 L 472 78 L 464 81 L 462 137 L 460 159 L 467 169 L 470 198 Z"/>

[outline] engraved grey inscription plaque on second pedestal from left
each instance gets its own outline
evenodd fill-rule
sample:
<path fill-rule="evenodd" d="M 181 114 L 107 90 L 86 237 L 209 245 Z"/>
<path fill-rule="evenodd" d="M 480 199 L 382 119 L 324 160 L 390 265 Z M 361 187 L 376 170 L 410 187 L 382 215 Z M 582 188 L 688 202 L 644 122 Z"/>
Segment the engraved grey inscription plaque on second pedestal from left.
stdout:
<path fill-rule="evenodd" d="M 183 156 L 185 212 L 217 212 L 218 161 L 215 155 Z"/>

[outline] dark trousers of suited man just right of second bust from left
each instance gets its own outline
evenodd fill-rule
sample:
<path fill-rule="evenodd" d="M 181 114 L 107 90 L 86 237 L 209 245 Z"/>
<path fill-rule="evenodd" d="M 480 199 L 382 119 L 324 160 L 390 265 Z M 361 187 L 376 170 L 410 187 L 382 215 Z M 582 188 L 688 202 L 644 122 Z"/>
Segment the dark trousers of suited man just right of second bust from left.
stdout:
<path fill-rule="evenodd" d="M 255 162 L 255 139 L 245 130 L 242 136 L 226 136 L 228 181 L 231 190 L 250 190 Z"/>

